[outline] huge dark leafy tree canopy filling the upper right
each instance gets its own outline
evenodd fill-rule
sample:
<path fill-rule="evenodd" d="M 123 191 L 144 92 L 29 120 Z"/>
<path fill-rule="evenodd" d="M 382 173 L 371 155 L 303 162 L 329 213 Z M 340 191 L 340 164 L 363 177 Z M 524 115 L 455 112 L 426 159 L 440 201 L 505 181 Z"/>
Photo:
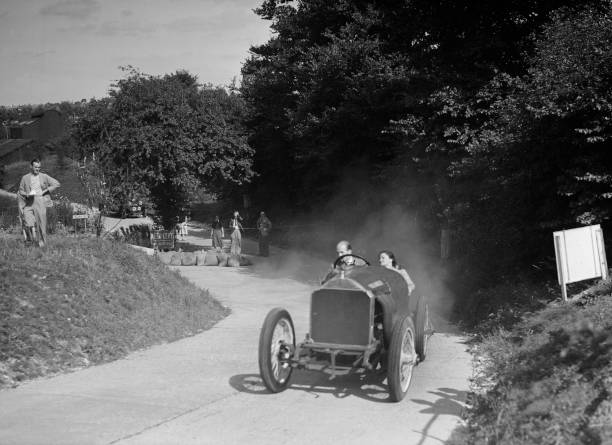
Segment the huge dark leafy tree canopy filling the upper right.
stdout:
<path fill-rule="evenodd" d="M 609 8 L 264 1 L 275 34 L 242 70 L 255 193 L 320 208 L 363 167 L 482 276 L 549 254 L 552 228 L 607 212 Z"/>

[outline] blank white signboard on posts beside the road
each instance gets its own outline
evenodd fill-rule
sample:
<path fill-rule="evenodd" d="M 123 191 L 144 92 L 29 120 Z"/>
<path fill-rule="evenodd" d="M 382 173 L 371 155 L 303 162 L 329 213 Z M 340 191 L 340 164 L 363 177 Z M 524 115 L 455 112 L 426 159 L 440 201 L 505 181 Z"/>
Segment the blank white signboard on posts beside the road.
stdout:
<path fill-rule="evenodd" d="M 565 285 L 591 278 L 608 278 L 608 263 L 599 224 L 553 233 L 557 277 L 563 299 Z"/>

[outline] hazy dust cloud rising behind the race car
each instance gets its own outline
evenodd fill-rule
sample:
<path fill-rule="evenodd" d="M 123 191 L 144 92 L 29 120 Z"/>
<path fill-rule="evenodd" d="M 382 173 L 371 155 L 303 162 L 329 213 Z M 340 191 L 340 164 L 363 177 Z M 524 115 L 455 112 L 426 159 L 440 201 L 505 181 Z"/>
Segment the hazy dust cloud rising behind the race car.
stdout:
<path fill-rule="evenodd" d="M 342 239 L 371 264 L 378 264 L 381 250 L 390 250 L 415 282 L 416 293 L 427 296 L 432 310 L 448 320 L 454 294 L 440 259 L 439 229 L 431 224 L 423 227 L 423 218 L 405 203 L 398 203 L 397 193 L 375 187 L 368 179 L 367 172 L 352 172 L 320 211 L 293 218 L 290 225 L 281 224 L 287 245 L 312 256 L 309 265 L 289 255 L 269 267 L 278 276 L 294 276 L 312 284 L 325 275 Z"/>

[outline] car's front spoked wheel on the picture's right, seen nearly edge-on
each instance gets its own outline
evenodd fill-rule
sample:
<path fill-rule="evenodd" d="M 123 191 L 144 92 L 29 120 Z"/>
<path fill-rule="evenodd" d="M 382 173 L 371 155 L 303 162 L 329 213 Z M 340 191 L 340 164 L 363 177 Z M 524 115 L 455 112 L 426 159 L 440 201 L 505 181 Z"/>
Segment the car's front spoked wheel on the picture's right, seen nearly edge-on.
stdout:
<path fill-rule="evenodd" d="M 389 346 L 387 384 L 391 401 L 400 402 L 406 396 L 416 362 L 414 324 L 407 316 L 395 325 Z"/>

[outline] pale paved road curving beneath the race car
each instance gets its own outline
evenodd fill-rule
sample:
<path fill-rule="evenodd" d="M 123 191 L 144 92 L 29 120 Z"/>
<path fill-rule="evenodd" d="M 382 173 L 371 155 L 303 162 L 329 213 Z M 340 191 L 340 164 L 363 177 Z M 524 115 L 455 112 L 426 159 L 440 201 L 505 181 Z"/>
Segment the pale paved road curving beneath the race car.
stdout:
<path fill-rule="evenodd" d="M 0 392 L 0 444 L 444 443 L 471 374 L 463 338 L 448 327 L 430 339 L 401 403 L 388 401 L 377 376 L 330 381 L 296 371 L 287 391 L 265 391 L 257 367 L 265 314 L 287 308 L 301 340 L 309 294 L 327 267 L 272 253 L 250 268 L 177 268 L 231 307 L 209 331 Z"/>

